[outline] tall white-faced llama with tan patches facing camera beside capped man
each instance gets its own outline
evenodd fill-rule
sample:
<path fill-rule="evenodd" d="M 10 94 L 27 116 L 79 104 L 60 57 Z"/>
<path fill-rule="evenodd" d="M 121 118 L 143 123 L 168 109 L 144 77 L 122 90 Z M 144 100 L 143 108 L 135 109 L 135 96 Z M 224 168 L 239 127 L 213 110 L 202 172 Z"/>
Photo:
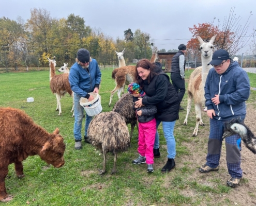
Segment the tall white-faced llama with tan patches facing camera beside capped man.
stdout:
<path fill-rule="evenodd" d="M 194 98 L 194 109 L 197 122 L 195 124 L 192 136 L 197 136 L 199 125 L 204 126 L 202 121 L 202 106 L 205 104 L 204 85 L 208 72 L 210 68 L 213 67 L 212 65 L 207 64 L 212 60 L 213 57 L 213 43 L 215 38 L 216 36 L 213 36 L 209 42 L 204 42 L 201 37 L 197 36 L 202 53 L 202 66 L 195 68 L 189 77 L 187 115 L 183 123 L 184 125 L 188 124 L 188 114 L 191 109 L 192 99 Z"/>

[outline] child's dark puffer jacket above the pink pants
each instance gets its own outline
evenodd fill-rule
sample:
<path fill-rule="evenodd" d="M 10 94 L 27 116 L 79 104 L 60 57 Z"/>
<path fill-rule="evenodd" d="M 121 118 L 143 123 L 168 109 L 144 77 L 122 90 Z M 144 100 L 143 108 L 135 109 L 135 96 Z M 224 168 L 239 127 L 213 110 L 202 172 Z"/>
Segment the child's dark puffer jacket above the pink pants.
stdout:
<path fill-rule="evenodd" d="M 145 95 L 143 96 L 142 98 L 147 98 L 148 96 Z M 133 97 L 133 102 L 135 101 L 138 101 L 138 97 Z M 146 122 L 149 122 L 149 121 L 152 121 L 152 119 L 155 118 L 155 114 L 157 113 L 157 108 L 155 105 L 145 105 L 144 107 L 140 107 L 140 108 L 134 108 L 134 105 L 132 107 L 132 109 L 134 111 L 142 111 L 142 114 L 141 116 L 137 115 L 136 113 L 136 116 L 137 116 L 137 119 L 138 119 L 138 122 L 140 123 L 146 123 Z"/>

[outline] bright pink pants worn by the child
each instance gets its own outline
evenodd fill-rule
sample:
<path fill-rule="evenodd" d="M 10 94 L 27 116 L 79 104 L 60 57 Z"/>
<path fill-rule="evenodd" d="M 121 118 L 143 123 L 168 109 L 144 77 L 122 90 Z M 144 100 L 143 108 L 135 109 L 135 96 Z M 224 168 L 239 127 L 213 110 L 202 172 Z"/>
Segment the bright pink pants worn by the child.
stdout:
<path fill-rule="evenodd" d="M 147 123 L 139 123 L 138 152 L 146 157 L 147 164 L 154 164 L 153 148 L 156 136 L 156 119 Z"/>

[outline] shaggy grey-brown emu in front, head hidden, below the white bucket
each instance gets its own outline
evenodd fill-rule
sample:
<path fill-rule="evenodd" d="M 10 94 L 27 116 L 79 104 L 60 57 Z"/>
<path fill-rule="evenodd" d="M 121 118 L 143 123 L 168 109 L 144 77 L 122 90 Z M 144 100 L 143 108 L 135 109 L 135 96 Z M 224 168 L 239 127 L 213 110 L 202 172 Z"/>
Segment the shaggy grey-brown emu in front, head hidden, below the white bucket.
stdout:
<path fill-rule="evenodd" d="M 103 153 L 103 169 L 99 175 L 106 172 L 107 152 L 112 152 L 114 166 L 112 173 L 116 173 L 117 152 L 125 151 L 130 144 L 129 131 L 124 118 L 116 112 L 102 112 L 97 114 L 89 124 L 87 132 L 89 141 Z"/>

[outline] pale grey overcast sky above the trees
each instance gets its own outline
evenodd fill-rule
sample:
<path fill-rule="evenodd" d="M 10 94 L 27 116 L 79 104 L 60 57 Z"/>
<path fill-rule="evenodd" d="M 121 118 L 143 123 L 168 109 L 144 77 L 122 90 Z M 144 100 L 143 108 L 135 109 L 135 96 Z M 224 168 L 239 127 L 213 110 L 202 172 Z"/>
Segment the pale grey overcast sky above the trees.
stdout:
<path fill-rule="evenodd" d="M 250 12 L 250 27 L 247 35 L 256 28 L 255 0 L 0 0 L 0 18 L 5 16 L 17 20 L 18 16 L 26 21 L 33 8 L 46 9 L 52 18 L 66 18 L 69 14 L 84 18 L 85 24 L 100 28 L 103 33 L 123 39 L 128 28 L 149 33 L 158 49 L 177 49 L 179 44 L 186 44 L 192 37 L 188 28 L 198 23 L 217 23 L 221 25 L 228 17 L 231 7 L 240 16 L 240 25 L 245 25 Z M 213 34 L 214 35 L 214 34 Z M 242 52 L 249 49 L 247 46 Z M 118 51 L 121 52 L 121 51 Z M 239 54 L 240 54 L 239 52 Z"/>

